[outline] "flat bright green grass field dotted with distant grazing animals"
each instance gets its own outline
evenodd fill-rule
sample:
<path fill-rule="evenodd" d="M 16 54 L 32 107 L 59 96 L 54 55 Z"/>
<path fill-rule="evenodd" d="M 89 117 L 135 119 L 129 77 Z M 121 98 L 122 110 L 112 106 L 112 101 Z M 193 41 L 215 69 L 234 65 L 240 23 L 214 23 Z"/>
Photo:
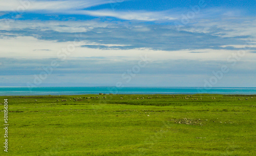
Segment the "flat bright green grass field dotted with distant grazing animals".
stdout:
<path fill-rule="evenodd" d="M 253 97 L 2 96 L 0 155 L 256 155 Z"/>

